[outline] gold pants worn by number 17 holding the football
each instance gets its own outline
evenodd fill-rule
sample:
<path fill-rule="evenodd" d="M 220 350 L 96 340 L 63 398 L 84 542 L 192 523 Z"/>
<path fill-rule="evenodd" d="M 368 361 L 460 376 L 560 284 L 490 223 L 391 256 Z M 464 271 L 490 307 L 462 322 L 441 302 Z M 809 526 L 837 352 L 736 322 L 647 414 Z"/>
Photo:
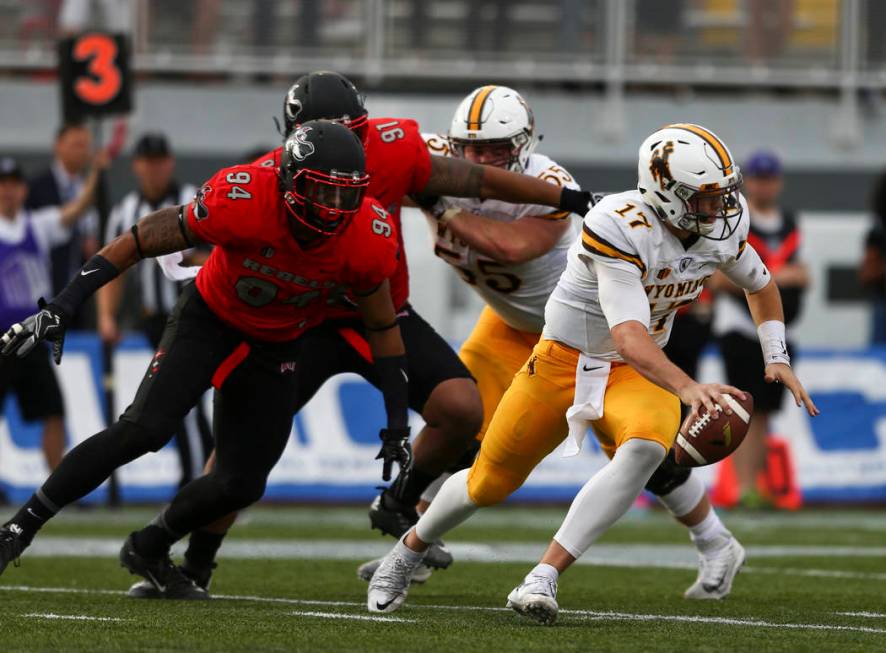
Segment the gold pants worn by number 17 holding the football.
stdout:
<path fill-rule="evenodd" d="M 571 347 L 542 339 L 517 372 L 468 475 L 468 495 L 478 506 L 504 501 L 566 437 L 578 356 Z M 629 365 L 613 363 L 603 417 L 592 426 L 610 457 L 631 438 L 652 440 L 667 450 L 680 426 L 680 401 Z"/>

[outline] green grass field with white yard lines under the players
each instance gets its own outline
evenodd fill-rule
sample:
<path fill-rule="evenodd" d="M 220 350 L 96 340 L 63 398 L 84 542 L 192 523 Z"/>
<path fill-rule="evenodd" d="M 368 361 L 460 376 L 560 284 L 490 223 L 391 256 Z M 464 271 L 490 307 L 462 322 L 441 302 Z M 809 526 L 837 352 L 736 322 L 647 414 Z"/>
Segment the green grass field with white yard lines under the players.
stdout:
<path fill-rule="evenodd" d="M 503 608 L 565 513 L 502 508 L 449 538 L 456 563 L 393 615 L 366 612 L 357 563 L 392 540 L 356 508 L 261 508 L 222 549 L 209 602 L 136 601 L 116 561 L 154 510 L 69 511 L 0 578 L 4 651 L 884 651 L 886 512 L 725 515 L 748 566 L 689 602 L 686 533 L 632 511 L 561 579 L 554 627 Z M 5 518 L 6 515 L 3 515 Z"/>

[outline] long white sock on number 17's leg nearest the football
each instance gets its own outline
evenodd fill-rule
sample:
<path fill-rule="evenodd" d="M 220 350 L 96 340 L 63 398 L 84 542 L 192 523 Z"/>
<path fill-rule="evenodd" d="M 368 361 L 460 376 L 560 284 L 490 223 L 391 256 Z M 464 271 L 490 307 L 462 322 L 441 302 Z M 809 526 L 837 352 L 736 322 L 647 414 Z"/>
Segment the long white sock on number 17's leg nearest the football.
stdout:
<path fill-rule="evenodd" d="M 554 539 L 578 558 L 600 535 L 624 515 L 664 459 L 657 442 L 633 438 L 590 481 L 569 507 Z"/>

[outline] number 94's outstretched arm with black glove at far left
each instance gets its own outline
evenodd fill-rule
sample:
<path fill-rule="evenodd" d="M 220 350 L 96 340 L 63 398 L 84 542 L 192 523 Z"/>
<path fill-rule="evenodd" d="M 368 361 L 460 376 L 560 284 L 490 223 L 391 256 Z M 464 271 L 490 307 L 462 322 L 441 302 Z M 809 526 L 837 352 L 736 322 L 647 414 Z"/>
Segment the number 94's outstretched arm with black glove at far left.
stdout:
<path fill-rule="evenodd" d="M 52 344 L 53 358 L 59 364 L 65 329 L 88 297 L 141 258 L 193 246 L 181 209 L 155 211 L 139 220 L 131 231 L 105 245 L 51 302 L 41 298 L 38 313 L 13 324 L 0 337 L 0 353 L 26 356 L 38 342 L 46 340 Z"/>

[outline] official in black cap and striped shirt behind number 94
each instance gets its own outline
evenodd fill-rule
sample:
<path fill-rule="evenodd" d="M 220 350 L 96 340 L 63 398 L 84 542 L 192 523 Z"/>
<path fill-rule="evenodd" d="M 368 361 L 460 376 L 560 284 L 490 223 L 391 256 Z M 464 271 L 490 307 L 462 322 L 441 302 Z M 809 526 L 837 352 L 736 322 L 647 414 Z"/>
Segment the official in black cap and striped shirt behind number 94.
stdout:
<path fill-rule="evenodd" d="M 126 195 L 111 212 L 105 242 L 123 234 L 143 216 L 166 206 L 187 204 L 196 193 L 190 184 L 179 185 L 173 176 L 175 158 L 163 134 L 147 133 L 135 145 L 132 172 L 138 188 Z M 182 265 L 202 265 L 205 252 L 191 250 Z M 160 345 L 166 320 L 178 301 L 183 284 L 167 279 L 153 260 L 140 261 L 132 268 L 138 275 L 140 298 L 139 328 L 153 348 Z M 102 341 L 114 344 L 120 339 L 117 313 L 123 295 L 125 275 L 121 275 L 98 291 L 98 331 Z M 176 447 L 181 461 L 181 485 L 199 475 L 212 449 L 209 422 L 202 406 L 193 409 L 177 429 Z"/>

